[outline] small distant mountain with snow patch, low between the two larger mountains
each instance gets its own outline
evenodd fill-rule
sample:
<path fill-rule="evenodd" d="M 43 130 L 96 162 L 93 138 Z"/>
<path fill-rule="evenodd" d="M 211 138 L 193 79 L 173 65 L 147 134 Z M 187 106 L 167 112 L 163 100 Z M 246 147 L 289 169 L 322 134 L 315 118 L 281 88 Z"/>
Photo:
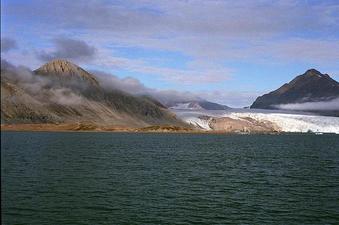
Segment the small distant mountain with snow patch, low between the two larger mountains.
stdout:
<path fill-rule="evenodd" d="M 225 110 L 230 107 L 209 101 L 184 101 L 167 104 L 170 109 L 189 109 L 189 110 Z"/>

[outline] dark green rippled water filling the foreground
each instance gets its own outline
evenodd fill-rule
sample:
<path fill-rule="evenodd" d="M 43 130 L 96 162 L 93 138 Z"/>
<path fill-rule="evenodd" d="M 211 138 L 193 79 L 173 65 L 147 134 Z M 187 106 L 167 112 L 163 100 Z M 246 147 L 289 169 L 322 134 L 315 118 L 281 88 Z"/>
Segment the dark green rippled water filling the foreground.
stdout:
<path fill-rule="evenodd" d="M 1 133 L 3 224 L 335 224 L 336 135 Z"/>

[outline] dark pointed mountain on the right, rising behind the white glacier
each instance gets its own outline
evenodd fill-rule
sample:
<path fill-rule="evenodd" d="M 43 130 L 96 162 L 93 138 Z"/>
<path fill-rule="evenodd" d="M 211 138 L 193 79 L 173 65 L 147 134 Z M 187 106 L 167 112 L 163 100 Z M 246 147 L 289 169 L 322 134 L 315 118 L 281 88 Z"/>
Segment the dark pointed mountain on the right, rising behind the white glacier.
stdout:
<path fill-rule="evenodd" d="M 339 83 L 328 74 L 322 74 L 315 69 L 310 69 L 277 90 L 258 97 L 251 105 L 251 108 L 277 109 L 287 104 L 296 106 L 296 104 L 302 103 L 307 106 L 305 103 L 327 102 L 336 98 L 339 98 Z M 304 110 L 328 111 L 327 109 L 313 110 L 311 104 L 309 104 L 308 108 L 304 107 Z"/>

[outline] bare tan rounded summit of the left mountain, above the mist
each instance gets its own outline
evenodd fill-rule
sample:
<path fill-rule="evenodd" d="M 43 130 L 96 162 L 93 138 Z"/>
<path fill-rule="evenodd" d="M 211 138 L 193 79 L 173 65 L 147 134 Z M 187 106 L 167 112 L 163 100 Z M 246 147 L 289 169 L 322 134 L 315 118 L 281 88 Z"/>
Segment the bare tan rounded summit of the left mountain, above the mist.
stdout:
<path fill-rule="evenodd" d="M 99 85 L 98 81 L 92 74 L 65 59 L 52 60 L 34 72 L 39 75 L 58 77 L 62 80 L 78 79 L 84 80 L 94 86 Z"/>

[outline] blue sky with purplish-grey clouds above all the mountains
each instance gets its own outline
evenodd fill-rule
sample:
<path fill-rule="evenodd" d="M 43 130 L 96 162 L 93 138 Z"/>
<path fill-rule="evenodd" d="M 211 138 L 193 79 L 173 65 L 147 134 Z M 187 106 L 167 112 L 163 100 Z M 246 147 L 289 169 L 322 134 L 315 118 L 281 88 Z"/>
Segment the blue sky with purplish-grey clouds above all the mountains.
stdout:
<path fill-rule="evenodd" d="M 310 68 L 339 80 L 339 1 L 1 0 L 1 59 L 55 58 L 244 107 Z"/>

